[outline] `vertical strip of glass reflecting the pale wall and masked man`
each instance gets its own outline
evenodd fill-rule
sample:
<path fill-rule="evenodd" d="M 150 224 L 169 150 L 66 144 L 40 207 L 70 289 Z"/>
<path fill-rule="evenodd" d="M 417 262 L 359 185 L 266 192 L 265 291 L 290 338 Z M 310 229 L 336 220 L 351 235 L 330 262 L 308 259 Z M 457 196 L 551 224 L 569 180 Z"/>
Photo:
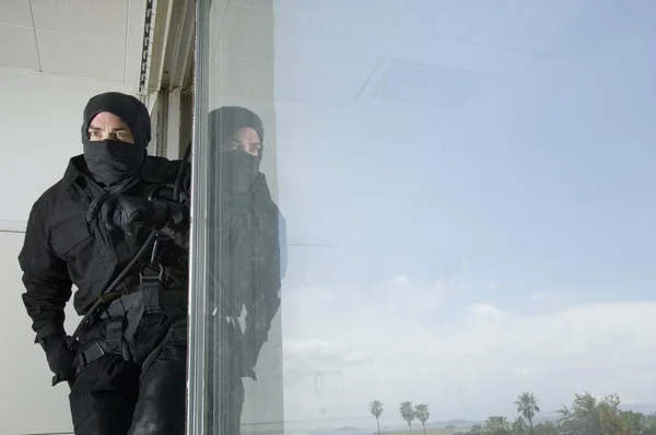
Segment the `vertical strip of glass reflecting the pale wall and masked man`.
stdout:
<path fill-rule="evenodd" d="M 191 346 L 192 358 L 202 355 L 203 363 L 191 368 L 190 393 L 202 399 L 192 403 L 190 419 L 206 424 L 191 424 L 203 435 L 237 433 L 238 426 L 242 433 L 284 431 L 279 292 L 286 242 L 276 205 L 269 3 L 197 3 L 197 113 L 207 116 L 197 124 L 197 133 L 203 132 L 197 138 L 208 156 L 198 181 L 207 186 L 207 209 L 197 209 L 197 225 L 204 213 L 208 224 L 207 246 L 197 244 L 196 257 L 207 273 L 196 279 L 208 282 L 201 291 L 207 307 L 196 306 L 204 342 Z"/>

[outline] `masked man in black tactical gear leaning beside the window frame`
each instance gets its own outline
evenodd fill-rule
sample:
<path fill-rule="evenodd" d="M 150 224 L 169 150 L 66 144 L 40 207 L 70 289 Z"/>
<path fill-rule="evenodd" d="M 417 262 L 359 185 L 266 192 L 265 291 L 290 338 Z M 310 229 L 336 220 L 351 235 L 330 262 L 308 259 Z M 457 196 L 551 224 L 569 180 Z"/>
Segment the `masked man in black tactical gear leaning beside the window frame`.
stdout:
<path fill-rule="evenodd" d="M 34 203 L 19 257 L 36 341 L 54 384 L 71 387 L 75 434 L 185 433 L 188 195 L 174 186 L 184 163 L 149 156 L 150 140 L 139 99 L 92 97 L 84 152 Z M 85 317 L 68 337 L 72 285 Z"/>

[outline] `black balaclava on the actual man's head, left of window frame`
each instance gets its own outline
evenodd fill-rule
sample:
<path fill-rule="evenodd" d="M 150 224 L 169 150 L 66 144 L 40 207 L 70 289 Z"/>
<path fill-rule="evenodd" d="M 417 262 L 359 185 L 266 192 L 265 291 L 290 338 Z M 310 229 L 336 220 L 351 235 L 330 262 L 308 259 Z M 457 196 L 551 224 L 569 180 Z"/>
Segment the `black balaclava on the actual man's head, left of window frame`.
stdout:
<path fill-rule="evenodd" d="M 134 143 L 115 140 L 91 141 L 89 126 L 93 118 L 109 111 L 118 116 L 130 129 Z M 82 143 L 84 160 L 93 178 L 107 187 L 124 181 L 141 169 L 151 140 L 148 108 L 132 95 L 107 92 L 92 97 L 84 107 Z"/>

